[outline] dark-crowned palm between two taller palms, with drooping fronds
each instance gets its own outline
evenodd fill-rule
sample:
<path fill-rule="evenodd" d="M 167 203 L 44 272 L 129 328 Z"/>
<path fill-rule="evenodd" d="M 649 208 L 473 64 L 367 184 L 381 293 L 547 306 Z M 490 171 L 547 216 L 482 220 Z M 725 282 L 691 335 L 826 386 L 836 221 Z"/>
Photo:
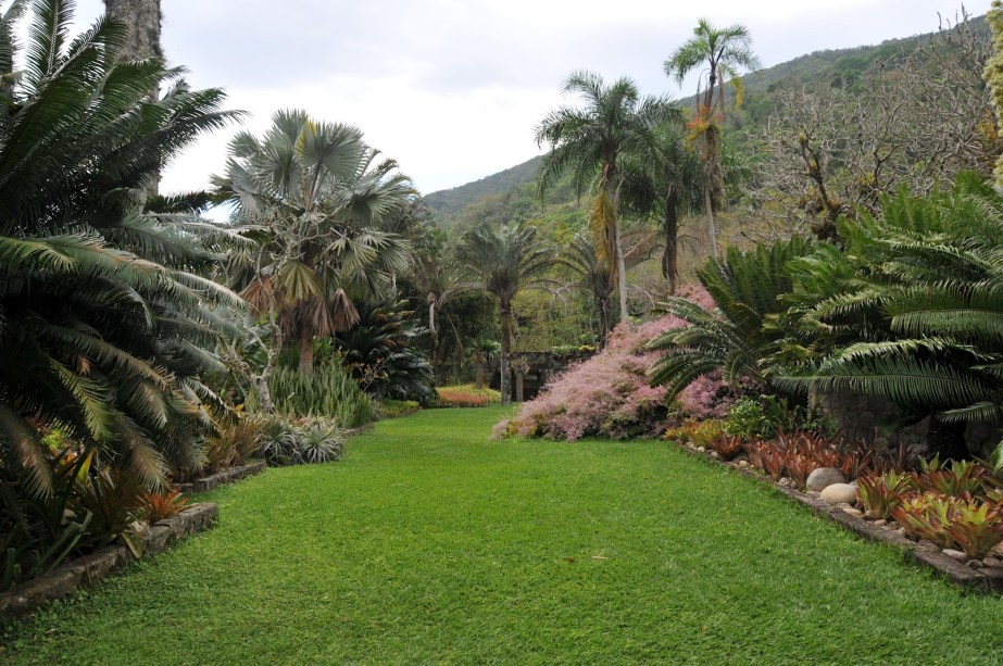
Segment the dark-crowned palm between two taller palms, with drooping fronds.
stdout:
<path fill-rule="evenodd" d="M 624 208 L 632 216 L 661 222 L 662 275 L 668 280 L 669 293 L 675 293 L 679 281 L 679 219 L 701 208 L 703 172 L 697 155 L 686 146 L 680 125 L 659 125 L 652 140 L 624 166 Z"/>

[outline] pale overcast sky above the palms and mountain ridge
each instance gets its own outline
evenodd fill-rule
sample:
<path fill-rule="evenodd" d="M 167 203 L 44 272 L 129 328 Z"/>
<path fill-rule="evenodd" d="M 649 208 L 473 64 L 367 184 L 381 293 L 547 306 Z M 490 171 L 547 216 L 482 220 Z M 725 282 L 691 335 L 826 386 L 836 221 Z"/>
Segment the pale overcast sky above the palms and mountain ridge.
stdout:
<path fill-rule="evenodd" d="M 78 0 L 90 23 L 101 0 Z M 741 23 L 765 66 L 823 49 L 931 32 L 948 0 L 163 0 L 164 51 L 197 87 L 264 130 L 276 109 L 358 125 L 418 189 L 456 187 L 540 151 L 534 126 L 567 100 L 578 68 L 630 76 L 643 92 L 692 95 L 662 71 L 699 17 Z M 979 15 L 989 0 L 965 5 Z M 162 189 L 208 186 L 233 131 L 203 138 Z"/>

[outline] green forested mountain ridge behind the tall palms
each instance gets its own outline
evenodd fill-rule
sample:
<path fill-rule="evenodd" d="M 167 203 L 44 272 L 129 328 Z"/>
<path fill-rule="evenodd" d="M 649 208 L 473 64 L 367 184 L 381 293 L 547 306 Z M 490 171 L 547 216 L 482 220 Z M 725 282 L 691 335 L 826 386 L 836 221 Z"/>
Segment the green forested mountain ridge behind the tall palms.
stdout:
<path fill-rule="evenodd" d="M 970 18 L 968 27 L 989 35 L 985 16 Z M 903 54 L 917 40 L 928 39 L 932 33 L 889 39 L 880 45 L 816 51 L 786 63 L 766 67 L 742 77 L 745 101 L 740 112 L 732 113 L 728 124 L 740 131 L 731 133 L 742 142 L 755 134 L 775 111 L 773 95 L 785 87 L 835 86 L 850 90 L 864 89 L 868 80 L 890 72 L 901 62 Z M 730 90 L 728 91 L 730 92 Z M 680 100 L 684 106 L 693 108 L 694 98 Z M 425 197 L 437 223 L 447 229 L 464 227 L 475 219 L 487 218 L 507 222 L 517 217 L 534 217 L 554 210 L 571 214 L 577 208 L 574 191 L 567 186 L 554 188 L 542 204 L 536 194 L 534 180 L 540 158 L 506 168 L 480 180 Z"/>

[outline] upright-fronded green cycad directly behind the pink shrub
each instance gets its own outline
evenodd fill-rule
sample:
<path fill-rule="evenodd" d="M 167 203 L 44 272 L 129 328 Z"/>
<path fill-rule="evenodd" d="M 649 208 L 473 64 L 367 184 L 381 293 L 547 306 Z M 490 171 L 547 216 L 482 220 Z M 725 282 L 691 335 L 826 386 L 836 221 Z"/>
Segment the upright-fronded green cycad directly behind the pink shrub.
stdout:
<path fill-rule="evenodd" d="M 663 352 L 649 370 L 652 384 L 666 385 L 670 398 L 715 370 L 732 387 L 772 385 L 769 364 L 785 338 L 777 325 L 787 310 L 780 297 L 792 288 L 790 262 L 811 250 L 811 241 L 794 237 L 745 252 L 732 247 L 724 260 L 712 259 L 698 277 L 716 309 L 680 297 L 666 303 L 666 312 L 687 326 L 649 343 Z"/>

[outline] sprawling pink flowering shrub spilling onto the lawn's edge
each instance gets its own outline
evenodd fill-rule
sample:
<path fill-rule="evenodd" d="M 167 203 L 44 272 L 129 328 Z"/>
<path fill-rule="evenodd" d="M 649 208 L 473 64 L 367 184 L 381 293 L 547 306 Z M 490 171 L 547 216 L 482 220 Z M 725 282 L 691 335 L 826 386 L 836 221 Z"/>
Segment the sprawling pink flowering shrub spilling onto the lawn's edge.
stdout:
<path fill-rule="evenodd" d="M 690 288 L 686 296 L 704 307 L 714 306 L 699 287 Z M 645 344 L 682 324 L 681 319 L 665 316 L 640 326 L 617 326 L 602 352 L 553 379 L 511 420 L 498 424 L 494 436 L 568 441 L 582 437 L 627 439 L 661 435 L 673 418 L 723 416 L 730 405 L 730 391 L 719 376 L 694 381 L 672 410 L 666 404 L 665 388 L 648 384 L 645 372 L 659 352 L 649 351 Z"/>

